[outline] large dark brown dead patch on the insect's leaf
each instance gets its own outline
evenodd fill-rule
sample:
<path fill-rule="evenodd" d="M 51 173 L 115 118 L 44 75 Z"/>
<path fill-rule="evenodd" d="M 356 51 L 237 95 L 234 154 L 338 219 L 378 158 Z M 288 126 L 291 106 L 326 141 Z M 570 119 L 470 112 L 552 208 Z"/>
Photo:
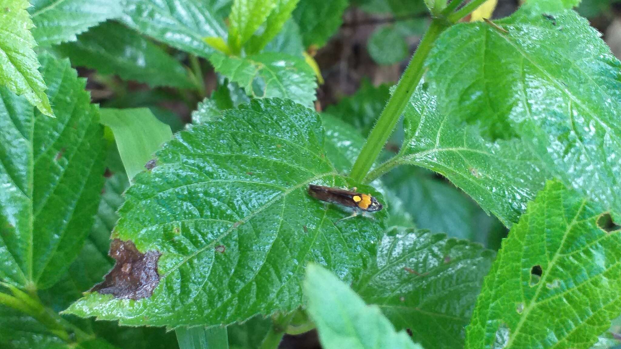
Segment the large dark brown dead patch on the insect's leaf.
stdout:
<path fill-rule="evenodd" d="M 160 275 L 157 273 L 160 252 L 140 253 L 132 240 L 121 241 L 116 238 L 112 240 L 108 254 L 116 260 L 116 264 L 102 283 L 91 288 L 91 292 L 135 300 L 153 294 L 153 289 L 160 283 Z"/>

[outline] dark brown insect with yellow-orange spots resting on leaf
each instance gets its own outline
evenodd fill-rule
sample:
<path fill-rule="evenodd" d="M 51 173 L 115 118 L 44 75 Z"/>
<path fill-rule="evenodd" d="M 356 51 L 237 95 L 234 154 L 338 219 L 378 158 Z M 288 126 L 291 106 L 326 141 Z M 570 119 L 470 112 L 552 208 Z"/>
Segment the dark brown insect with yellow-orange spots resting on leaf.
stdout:
<path fill-rule="evenodd" d="M 345 217 L 337 220 L 336 223 L 341 220 L 356 217 L 359 211 L 362 212 L 376 212 L 383 208 L 382 204 L 378 202 L 373 196 L 369 194 L 361 194 L 356 192 L 356 188 L 353 191 L 333 188 L 327 186 L 317 186 L 311 184 L 309 186 L 309 194 L 315 199 L 321 201 L 330 202 L 340 206 L 351 207 L 354 211 L 349 217 Z"/>

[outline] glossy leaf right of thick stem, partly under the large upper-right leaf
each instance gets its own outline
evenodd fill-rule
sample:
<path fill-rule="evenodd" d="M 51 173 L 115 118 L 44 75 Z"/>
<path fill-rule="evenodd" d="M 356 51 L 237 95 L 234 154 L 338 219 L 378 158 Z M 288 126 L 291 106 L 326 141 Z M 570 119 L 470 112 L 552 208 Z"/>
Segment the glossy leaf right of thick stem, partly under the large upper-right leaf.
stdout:
<path fill-rule="evenodd" d="M 437 99 L 425 86 L 419 86 L 404 111 L 401 151 L 376 171 L 410 164 L 440 173 L 510 227 L 543 188 L 546 169 L 524 142 L 487 142 L 475 127 L 440 114 Z"/>

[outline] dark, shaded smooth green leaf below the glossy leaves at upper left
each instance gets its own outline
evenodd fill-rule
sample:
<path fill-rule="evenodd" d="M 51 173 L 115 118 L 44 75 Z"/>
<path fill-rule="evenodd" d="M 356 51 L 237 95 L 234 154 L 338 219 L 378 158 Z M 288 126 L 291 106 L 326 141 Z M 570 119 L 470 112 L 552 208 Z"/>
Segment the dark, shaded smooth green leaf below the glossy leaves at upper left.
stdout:
<path fill-rule="evenodd" d="M 151 87 L 192 88 L 186 68 L 160 47 L 134 30 L 106 22 L 60 45 L 74 66 L 87 66 L 102 74 L 147 83 Z"/>

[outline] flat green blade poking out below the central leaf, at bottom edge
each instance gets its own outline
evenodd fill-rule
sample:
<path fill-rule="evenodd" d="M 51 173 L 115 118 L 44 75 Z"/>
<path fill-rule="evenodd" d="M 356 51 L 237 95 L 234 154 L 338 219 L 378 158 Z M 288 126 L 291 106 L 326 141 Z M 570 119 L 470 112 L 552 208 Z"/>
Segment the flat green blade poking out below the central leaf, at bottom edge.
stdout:
<path fill-rule="evenodd" d="M 228 349 L 226 327 L 178 327 L 175 330 L 179 349 Z"/>

